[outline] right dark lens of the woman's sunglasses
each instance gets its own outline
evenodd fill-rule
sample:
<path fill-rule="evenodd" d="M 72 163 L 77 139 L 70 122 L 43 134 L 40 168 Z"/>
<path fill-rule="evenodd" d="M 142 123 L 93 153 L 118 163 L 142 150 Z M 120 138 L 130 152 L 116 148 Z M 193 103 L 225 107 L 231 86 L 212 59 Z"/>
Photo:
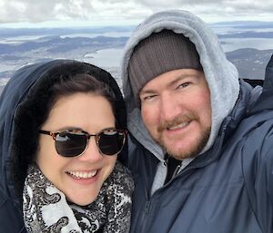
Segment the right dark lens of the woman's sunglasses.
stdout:
<path fill-rule="evenodd" d="M 122 150 L 125 133 L 120 131 L 104 131 L 99 135 L 98 146 L 103 154 L 114 155 Z"/>

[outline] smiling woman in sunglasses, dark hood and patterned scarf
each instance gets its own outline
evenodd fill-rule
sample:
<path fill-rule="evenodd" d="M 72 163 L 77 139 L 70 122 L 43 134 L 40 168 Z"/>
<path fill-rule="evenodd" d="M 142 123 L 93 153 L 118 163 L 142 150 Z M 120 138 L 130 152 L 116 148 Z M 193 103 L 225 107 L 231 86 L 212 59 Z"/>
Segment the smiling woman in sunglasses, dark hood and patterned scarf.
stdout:
<path fill-rule="evenodd" d="M 114 78 L 58 60 L 17 71 L 0 99 L 0 232 L 127 232 L 133 180 Z"/>

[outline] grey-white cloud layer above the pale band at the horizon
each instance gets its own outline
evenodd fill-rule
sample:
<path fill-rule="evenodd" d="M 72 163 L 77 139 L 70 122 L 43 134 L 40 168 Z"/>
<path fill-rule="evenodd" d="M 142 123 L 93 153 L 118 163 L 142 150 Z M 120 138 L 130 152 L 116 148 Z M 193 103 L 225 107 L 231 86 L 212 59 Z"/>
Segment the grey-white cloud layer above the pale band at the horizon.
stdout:
<path fill-rule="evenodd" d="M 167 8 L 185 9 L 197 15 L 268 14 L 268 20 L 273 21 L 272 0 L 0 0 L 0 24 L 93 18 L 143 19 Z"/>

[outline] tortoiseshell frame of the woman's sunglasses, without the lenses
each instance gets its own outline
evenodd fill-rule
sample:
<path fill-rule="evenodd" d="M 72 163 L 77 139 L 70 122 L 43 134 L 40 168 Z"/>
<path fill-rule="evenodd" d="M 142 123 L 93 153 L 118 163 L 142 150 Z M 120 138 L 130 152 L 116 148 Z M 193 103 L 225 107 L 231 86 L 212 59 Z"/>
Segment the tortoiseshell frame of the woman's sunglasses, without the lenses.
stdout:
<path fill-rule="evenodd" d="M 122 133 L 122 134 L 124 135 L 123 142 L 122 142 L 122 147 L 121 147 L 121 149 L 118 150 L 115 154 L 105 154 L 105 153 L 103 153 L 103 152 L 100 150 L 99 142 L 98 142 L 98 141 L 99 141 L 99 139 L 100 139 L 100 136 L 101 136 L 104 132 L 106 132 L 106 131 L 107 131 L 107 132 L 116 131 L 116 132 Z M 89 143 L 89 140 L 90 140 L 91 137 L 95 137 L 97 149 L 98 149 L 98 151 L 99 151 L 101 154 L 106 155 L 106 156 L 113 156 L 113 155 L 118 154 L 118 153 L 123 149 L 123 147 L 124 147 L 124 145 L 125 145 L 126 135 L 127 135 L 127 132 L 128 132 L 128 131 L 126 131 L 126 130 L 119 130 L 119 129 L 116 129 L 116 128 L 106 128 L 106 129 L 103 129 L 103 130 L 97 132 L 96 134 L 90 134 L 90 133 L 88 133 L 88 132 L 86 132 L 86 131 L 82 131 L 82 130 L 64 130 L 64 131 L 44 131 L 44 130 L 39 130 L 38 132 L 39 132 L 39 133 L 42 133 L 42 134 L 45 134 L 45 135 L 51 136 L 52 139 L 53 139 L 54 141 L 56 141 L 56 136 L 57 136 L 58 134 L 62 133 L 62 132 L 68 132 L 68 133 L 69 133 L 69 132 L 80 132 L 80 133 L 82 133 L 83 135 L 86 135 L 86 140 L 87 140 L 87 141 L 86 141 L 86 148 L 85 148 L 85 150 L 83 150 L 80 154 L 76 154 L 75 156 L 64 156 L 64 155 L 60 154 L 60 153 L 57 151 L 57 149 L 56 149 L 56 152 L 57 152 L 60 156 L 65 157 L 65 158 L 74 158 L 74 157 L 81 156 L 82 154 L 84 154 L 84 153 L 86 152 L 86 149 L 87 149 L 87 147 L 88 147 L 88 143 Z M 56 142 L 55 142 L 55 148 L 56 148 Z"/>

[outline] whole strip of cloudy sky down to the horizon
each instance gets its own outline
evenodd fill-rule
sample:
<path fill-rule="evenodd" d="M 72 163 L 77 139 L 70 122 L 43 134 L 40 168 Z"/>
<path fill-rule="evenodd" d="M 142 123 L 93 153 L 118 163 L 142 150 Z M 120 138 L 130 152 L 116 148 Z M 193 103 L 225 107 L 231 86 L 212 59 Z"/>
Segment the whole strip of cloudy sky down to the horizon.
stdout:
<path fill-rule="evenodd" d="M 0 26 L 138 24 L 171 8 L 191 11 L 207 23 L 273 21 L 272 0 L 0 0 Z"/>

